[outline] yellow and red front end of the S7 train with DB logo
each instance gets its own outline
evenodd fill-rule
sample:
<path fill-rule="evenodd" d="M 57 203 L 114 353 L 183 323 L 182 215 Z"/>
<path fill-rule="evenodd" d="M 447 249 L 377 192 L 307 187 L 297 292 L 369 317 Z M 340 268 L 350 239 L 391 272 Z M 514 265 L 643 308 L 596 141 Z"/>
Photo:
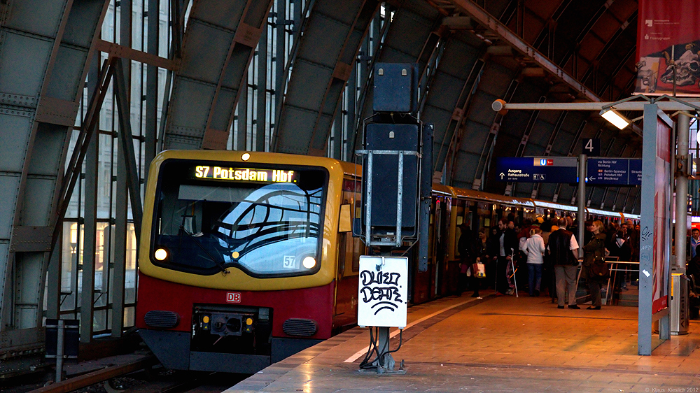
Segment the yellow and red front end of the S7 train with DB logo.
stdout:
<path fill-rule="evenodd" d="M 342 176 L 320 157 L 156 157 L 137 327 L 164 366 L 254 373 L 331 336 L 338 206 L 328 196 Z"/>

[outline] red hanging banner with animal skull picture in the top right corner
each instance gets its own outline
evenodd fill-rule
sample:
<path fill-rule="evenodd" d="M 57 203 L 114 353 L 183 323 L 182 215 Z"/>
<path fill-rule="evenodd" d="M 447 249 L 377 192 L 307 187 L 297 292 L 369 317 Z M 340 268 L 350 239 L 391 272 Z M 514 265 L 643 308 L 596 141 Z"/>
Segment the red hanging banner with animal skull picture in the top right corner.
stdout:
<path fill-rule="evenodd" d="M 700 96 L 700 1 L 640 0 L 635 94 Z"/>

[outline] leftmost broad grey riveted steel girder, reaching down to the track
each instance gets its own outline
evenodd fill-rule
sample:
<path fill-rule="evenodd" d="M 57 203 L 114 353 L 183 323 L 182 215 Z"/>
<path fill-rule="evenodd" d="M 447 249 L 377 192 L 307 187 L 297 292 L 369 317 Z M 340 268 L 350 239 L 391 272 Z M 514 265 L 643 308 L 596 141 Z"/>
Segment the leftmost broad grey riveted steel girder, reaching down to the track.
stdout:
<path fill-rule="evenodd" d="M 40 348 L 45 272 L 107 0 L 24 0 L 0 20 L 0 356 Z M 68 169 L 70 171 L 70 169 Z M 55 264 L 57 260 L 53 261 Z M 10 366 L 11 362 L 4 364 Z M 0 368 L 0 373 L 6 370 Z"/>

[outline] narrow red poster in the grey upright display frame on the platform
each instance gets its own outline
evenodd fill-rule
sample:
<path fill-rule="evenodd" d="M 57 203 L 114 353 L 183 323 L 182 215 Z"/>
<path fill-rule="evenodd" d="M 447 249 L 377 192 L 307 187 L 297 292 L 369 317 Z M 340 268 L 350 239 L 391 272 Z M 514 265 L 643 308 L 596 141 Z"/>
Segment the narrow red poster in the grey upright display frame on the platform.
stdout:
<path fill-rule="evenodd" d="M 671 127 L 657 118 L 656 176 L 654 177 L 654 265 L 652 314 L 668 306 L 668 271 L 671 264 Z"/>

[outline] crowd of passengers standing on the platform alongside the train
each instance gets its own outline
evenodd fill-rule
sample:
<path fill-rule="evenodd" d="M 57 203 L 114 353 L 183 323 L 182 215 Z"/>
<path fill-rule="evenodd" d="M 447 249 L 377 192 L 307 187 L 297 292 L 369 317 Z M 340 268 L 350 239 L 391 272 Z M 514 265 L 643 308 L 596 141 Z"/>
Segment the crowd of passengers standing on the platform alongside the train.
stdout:
<path fill-rule="evenodd" d="M 558 308 L 580 307 L 576 303 L 577 276 L 587 283 L 592 304 L 601 309 L 601 287 L 609 273 L 602 274 L 594 265 L 605 257 L 619 261 L 639 260 L 639 226 L 627 220 L 618 225 L 601 221 L 584 223 L 584 238 L 578 238 L 577 222 L 571 217 L 533 222 L 516 222 L 514 215 L 498 221 L 496 227 L 481 228 L 474 234 L 466 224 L 460 225 L 457 248 L 461 258 L 459 292 L 470 287 L 479 296 L 479 287 L 493 287 L 496 296 L 512 295 L 526 283 L 530 296 L 546 294 Z M 581 241 L 582 240 L 582 241 Z M 700 234 L 696 239 L 700 245 Z M 583 260 L 578 258 L 582 245 Z M 698 249 L 700 250 L 700 248 Z M 699 257 L 700 259 L 700 257 Z M 484 272 L 480 273 L 480 272 Z M 618 280 L 619 290 L 626 290 L 626 280 Z"/>

